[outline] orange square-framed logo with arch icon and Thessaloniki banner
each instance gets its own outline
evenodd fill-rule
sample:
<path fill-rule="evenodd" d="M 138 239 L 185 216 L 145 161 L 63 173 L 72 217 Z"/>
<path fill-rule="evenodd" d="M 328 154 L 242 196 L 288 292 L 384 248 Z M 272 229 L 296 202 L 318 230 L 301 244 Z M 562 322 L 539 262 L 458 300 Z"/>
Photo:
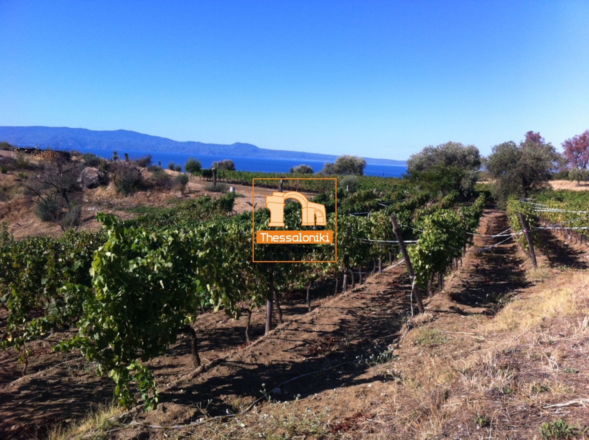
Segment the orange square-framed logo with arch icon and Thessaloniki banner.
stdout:
<path fill-rule="evenodd" d="M 256 201 L 256 181 L 274 180 L 273 185 L 259 183 L 259 187 L 276 187 L 275 180 L 270 178 L 253 178 L 252 180 L 252 261 L 254 263 L 296 263 L 335 262 L 337 259 L 336 234 L 333 230 L 327 229 L 327 211 L 325 205 L 309 201 L 309 196 L 299 191 L 283 191 L 283 184 L 288 187 L 299 187 L 294 184 L 296 180 L 319 180 L 322 181 L 317 187 L 330 191 L 330 184 L 335 188 L 337 206 L 337 179 L 336 178 L 300 178 L 282 179 L 280 191 L 272 191 L 264 199 L 258 196 Z M 331 181 L 331 183 L 329 182 Z M 267 194 L 267 190 L 266 190 Z M 267 223 L 267 230 L 256 230 L 255 210 L 257 204 L 265 201 L 266 209 L 270 211 L 270 221 Z M 293 200 L 300 204 L 300 226 L 302 230 L 289 229 L 284 221 L 284 207 L 287 200 Z M 336 213 L 337 214 L 337 207 Z M 337 215 L 335 215 L 335 231 L 337 231 Z M 292 225 L 291 225 L 292 226 Z M 319 248 L 315 246 L 320 246 Z M 256 258 L 256 254 L 262 254 L 262 259 Z M 317 254 L 325 255 L 326 259 L 316 259 Z"/>

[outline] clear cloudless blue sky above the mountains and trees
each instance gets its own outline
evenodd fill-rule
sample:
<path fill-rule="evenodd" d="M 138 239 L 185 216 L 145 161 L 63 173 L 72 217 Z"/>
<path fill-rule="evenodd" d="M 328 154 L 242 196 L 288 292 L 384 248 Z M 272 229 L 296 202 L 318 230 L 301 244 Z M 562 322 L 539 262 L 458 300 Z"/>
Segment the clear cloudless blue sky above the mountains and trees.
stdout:
<path fill-rule="evenodd" d="M 0 125 L 405 159 L 589 128 L 587 1 L 0 0 Z"/>

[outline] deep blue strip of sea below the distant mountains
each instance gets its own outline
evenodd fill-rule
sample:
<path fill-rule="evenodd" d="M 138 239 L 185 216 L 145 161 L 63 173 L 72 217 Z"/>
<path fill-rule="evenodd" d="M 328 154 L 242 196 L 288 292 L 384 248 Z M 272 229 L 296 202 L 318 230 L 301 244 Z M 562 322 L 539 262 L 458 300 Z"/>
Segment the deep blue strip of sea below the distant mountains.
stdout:
<path fill-rule="evenodd" d="M 76 148 L 80 153 L 94 153 L 97 156 L 110 158 L 112 151 L 104 148 Z M 118 151 L 121 158 L 124 157 L 124 151 Z M 288 173 L 290 167 L 300 164 L 306 164 L 313 167 L 313 171 L 317 172 L 323 168 L 323 161 L 314 160 L 295 160 L 295 159 L 273 159 L 273 158 L 250 158 L 237 156 L 211 156 L 209 154 L 184 154 L 184 153 L 163 153 L 161 151 L 129 151 L 131 159 L 151 154 L 151 158 L 155 165 L 161 162 L 161 166 L 166 168 L 169 163 L 178 164 L 184 170 L 184 163 L 188 157 L 199 159 L 203 164 L 203 168 L 209 168 L 215 161 L 223 159 L 231 159 L 235 164 L 236 170 L 240 171 L 264 171 L 266 173 Z M 364 170 L 366 176 L 380 176 L 380 177 L 401 177 L 407 171 L 406 166 L 396 165 L 379 165 L 367 164 Z"/>

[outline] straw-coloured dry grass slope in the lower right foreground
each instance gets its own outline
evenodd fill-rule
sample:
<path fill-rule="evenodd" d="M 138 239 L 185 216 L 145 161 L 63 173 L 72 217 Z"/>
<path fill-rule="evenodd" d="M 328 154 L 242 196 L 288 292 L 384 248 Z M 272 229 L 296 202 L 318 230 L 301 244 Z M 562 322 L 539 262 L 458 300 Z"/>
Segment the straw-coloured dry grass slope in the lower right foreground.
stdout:
<path fill-rule="evenodd" d="M 404 362 L 380 366 L 401 371 L 375 422 L 367 422 L 375 438 L 540 439 L 540 425 L 560 418 L 583 427 L 589 413 L 579 405 L 544 408 L 587 396 L 589 276 L 552 275 L 541 277 L 546 289 L 522 295 L 492 319 L 471 320 L 472 339 L 422 345 Z M 440 325 L 411 330 L 413 338 L 452 333 Z"/>

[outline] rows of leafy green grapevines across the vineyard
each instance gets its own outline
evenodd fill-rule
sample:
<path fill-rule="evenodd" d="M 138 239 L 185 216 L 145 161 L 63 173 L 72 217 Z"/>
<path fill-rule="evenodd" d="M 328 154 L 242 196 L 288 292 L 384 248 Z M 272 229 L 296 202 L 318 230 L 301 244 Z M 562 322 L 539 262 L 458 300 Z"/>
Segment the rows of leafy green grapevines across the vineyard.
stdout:
<path fill-rule="evenodd" d="M 244 183 L 252 176 L 273 177 L 220 173 L 230 183 Z M 278 184 L 267 181 L 269 187 Z M 284 180 L 283 185 L 316 193 L 311 201 L 325 205 L 327 228 L 333 229 L 333 188 L 304 180 L 292 184 Z M 246 316 L 240 343 L 252 345 L 259 339 L 252 334 L 252 320 L 257 319 L 252 316 L 261 307 L 265 307 L 264 333 L 269 334 L 284 322 L 283 309 L 289 310 L 295 292 L 304 292 L 305 313 L 312 316 L 312 292 L 350 292 L 365 284 L 370 274 L 404 273 L 399 278 L 403 281 L 395 281 L 400 283 L 398 289 L 380 300 L 401 305 L 391 313 L 407 319 L 418 313 L 416 309 L 423 312 L 423 297 L 431 299 L 442 289 L 448 273 L 458 270 L 466 254 L 479 255 L 512 239 L 529 252 L 524 232 L 541 246 L 538 232 L 545 229 L 565 231 L 586 243 L 589 227 L 586 197 L 578 193 L 553 191 L 534 200 L 511 199 L 507 229 L 479 233 L 485 193 L 461 199 L 455 192 L 432 194 L 401 180 L 362 177 L 357 191 L 340 188 L 337 193 L 335 263 L 252 263 L 252 216 L 235 214 L 234 200 L 233 193 L 218 199 L 202 197 L 134 220 L 98 214 L 100 231 L 68 231 L 58 239 L 18 241 L 4 228 L 0 299 L 7 314 L 1 348 L 18 356 L 26 374 L 35 356 L 31 349 L 35 341 L 52 336 L 54 352 L 79 350 L 99 376 L 111 379 L 123 408 L 141 403 L 146 410 L 156 409 L 170 400 L 170 393 L 160 395 L 161 384 L 150 362 L 166 355 L 180 335 L 190 338 L 196 374 L 204 375 L 204 366 L 211 368 L 207 352 L 223 350 L 210 348 L 208 342 L 206 351 L 199 349 L 203 344 L 194 324 L 211 312 L 229 319 Z M 254 218 L 256 229 L 263 229 L 269 213 L 259 208 Z M 300 206 L 287 204 L 284 219 L 287 229 L 300 228 Z M 316 248 L 305 249 L 306 259 L 314 260 Z M 256 245 L 255 252 L 259 259 L 272 259 L 267 246 Z M 332 252 L 326 249 L 322 257 L 327 253 L 335 259 Z M 313 318 L 307 315 L 300 322 L 310 325 Z M 333 335 L 313 353 L 339 346 L 340 339 Z"/>

